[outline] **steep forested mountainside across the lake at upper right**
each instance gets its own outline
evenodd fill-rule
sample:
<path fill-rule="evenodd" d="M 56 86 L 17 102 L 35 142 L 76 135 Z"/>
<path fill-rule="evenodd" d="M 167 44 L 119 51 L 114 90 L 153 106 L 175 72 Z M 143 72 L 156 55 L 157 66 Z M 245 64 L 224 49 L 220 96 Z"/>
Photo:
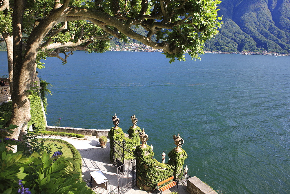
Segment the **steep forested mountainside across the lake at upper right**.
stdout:
<path fill-rule="evenodd" d="M 289 0 L 223 0 L 219 9 L 224 24 L 204 50 L 290 52 Z"/>

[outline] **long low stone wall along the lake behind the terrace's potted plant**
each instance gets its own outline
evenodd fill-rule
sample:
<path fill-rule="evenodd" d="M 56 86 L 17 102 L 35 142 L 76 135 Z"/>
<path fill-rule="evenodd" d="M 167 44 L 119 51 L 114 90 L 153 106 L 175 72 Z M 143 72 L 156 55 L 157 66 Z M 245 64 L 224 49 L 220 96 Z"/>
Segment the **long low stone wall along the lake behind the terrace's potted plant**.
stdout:
<path fill-rule="evenodd" d="M 54 127 L 54 126 L 46 126 L 47 131 L 60 131 L 67 133 L 77 133 L 82 135 L 95 135 L 96 137 L 100 137 L 102 135 L 108 136 L 108 132 L 110 129 L 82 129 L 75 127 Z"/>

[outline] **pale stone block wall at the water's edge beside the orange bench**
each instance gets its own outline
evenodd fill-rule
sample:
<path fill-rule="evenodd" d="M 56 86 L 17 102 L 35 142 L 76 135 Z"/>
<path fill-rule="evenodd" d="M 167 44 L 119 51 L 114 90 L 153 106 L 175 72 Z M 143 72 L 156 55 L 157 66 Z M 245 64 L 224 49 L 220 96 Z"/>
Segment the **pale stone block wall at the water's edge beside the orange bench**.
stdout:
<path fill-rule="evenodd" d="M 217 194 L 212 188 L 207 186 L 197 177 L 191 177 L 187 180 L 186 191 L 191 194 Z"/>

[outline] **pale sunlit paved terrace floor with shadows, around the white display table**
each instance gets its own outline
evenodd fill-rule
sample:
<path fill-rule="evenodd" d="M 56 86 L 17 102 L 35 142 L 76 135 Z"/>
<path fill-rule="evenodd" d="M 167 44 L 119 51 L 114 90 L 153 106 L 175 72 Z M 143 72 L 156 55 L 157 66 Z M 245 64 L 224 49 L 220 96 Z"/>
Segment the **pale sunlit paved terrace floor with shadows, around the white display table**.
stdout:
<path fill-rule="evenodd" d="M 44 136 L 44 138 L 48 138 L 48 136 Z M 109 180 L 108 188 L 102 184 L 99 188 L 95 188 L 95 193 L 102 193 L 108 194 L 113 193 L 115 189 L 118 187 L 117 181 L 117 168 L 113 165 L 110 161 L 110 143 L 107 142 L 107 148 L 101 148 L 99 139 L 95 138 L 95 136 L 86 136 L 87 140 L 79 140 L 79 139 L 72 139 L 68 137 L 61 137 L 61 136 L 51 136 L 50 138 L 57 138 L 62 139 L 71 143 L 75 148 L 79 151 L 82 157 L 82 174 L 83 179 L 88 180 L 90 179 L 90 172 L 95 170 L 101 170 L 105 177 Z M 65 153 L 64 153 L 65 155 Z M 96 183 L 93 182 L 93 186 L 96 186 Z M 116 190 L 115 190 L 116 191 Z M 186 191 L 186 186 L 179 185 L 174 186 L 166 191 L 163 191 L 162 194 L 168 194 L 173 191 L 177 191 L 180 194 L 189 194 Z M 118 192 L 116 192 L 118 193 Z M 135 187 L 129 190 L 126 194 L 147 194 L 148 192 L 142 191 L 139 188 Z M 159 193 L 154 191 L 153 193 Z"/>

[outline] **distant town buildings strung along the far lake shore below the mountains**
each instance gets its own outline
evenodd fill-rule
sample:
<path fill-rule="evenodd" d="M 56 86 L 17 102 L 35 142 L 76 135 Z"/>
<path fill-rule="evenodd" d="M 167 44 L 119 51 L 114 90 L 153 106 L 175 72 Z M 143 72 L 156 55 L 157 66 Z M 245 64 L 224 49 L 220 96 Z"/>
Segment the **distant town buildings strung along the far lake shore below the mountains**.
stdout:
<path fill-rule="evenodd" d="M 160 49 L 152 48 L 150 46 L 138 43 L 128 43 L 122 46 L 116 45 L 116 48 L 111 48 L 110 51 L 131 51 L 131 52 L 163 52 Z M 272 55 L 272 56 L 290 56 L 290 54 L 279 54 L 271 51 L 260 52 L 251 52 L 251 51 L 242 51 L 242 52 L 221 52 L 221 51 L 204 51 L 204 53 L 212 54 L 234 54 L 234 55 Z"/>

